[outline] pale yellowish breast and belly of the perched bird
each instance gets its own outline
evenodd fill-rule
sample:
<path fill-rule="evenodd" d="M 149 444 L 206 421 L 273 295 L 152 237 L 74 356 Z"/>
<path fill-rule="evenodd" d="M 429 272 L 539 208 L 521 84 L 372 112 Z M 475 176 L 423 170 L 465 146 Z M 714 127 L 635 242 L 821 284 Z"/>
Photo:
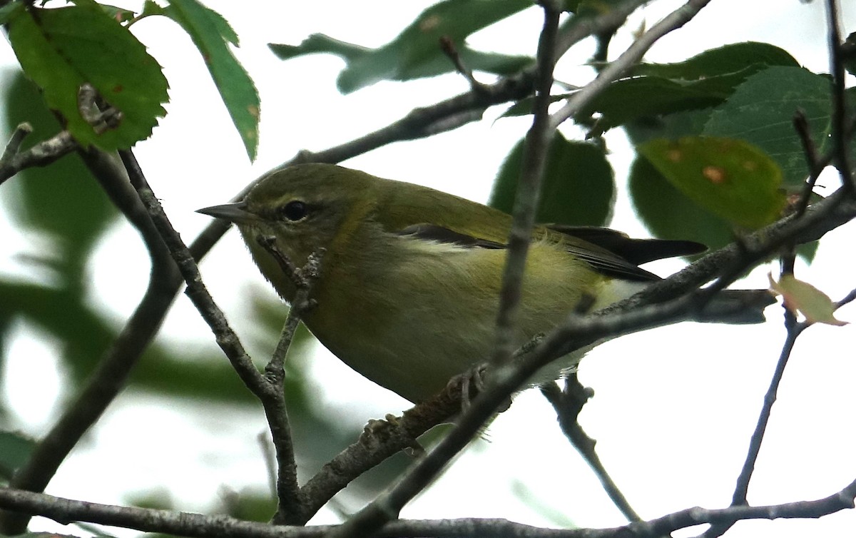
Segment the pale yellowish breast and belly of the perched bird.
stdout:
<path fill-rule="evenodd" d="M 372 266 L 371 272 L 336 275 L 337 285 L 380 287 L 382 294 L 360 294 L 350 304 L 326 294 L 318 306 L 327 310 L 319 316 L 324 323 L 306 321 L 351 368 L 419 401 L 442 390 L 455 374 L 490 358 L 506 251 L 407 236 L 394 240 L 404 248 L 385 252 L 400 253 L 395 258 Z M 547 242 L 532 245 L 526 274 L 515 344 L 549 332 L 585 294 L 602 293 L 607 282 Z M 556 366 L 556 376 L 561 369 Z"/>

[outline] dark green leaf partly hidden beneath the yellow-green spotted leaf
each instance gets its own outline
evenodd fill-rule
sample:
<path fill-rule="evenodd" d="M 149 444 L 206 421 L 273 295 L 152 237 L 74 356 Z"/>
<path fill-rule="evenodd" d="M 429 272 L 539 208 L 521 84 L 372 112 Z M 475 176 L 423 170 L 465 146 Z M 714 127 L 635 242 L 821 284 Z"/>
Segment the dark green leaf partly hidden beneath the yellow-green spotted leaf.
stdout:
<path fill-rule="evenodd" d="M 633 161 L 628 187 L 633 209 L 654 236 L 690 239 L 713 249 L 734 239 L 730 225 L 681 194 L 646 158 Z"/>

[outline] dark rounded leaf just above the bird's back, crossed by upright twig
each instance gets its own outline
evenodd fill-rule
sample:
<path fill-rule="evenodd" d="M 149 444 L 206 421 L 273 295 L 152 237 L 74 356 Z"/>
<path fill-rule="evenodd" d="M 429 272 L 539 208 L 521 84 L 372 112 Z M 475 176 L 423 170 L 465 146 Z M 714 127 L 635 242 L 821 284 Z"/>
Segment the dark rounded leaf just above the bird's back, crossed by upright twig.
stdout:
<path fill-rule="evenodd" d="M 523 149 L 524 140 L 520 140 L 508 153 L 490 194 L 490 206 L 512 211 Z M 614 203 L 615 176 L 603 150 L 557 133 L 544 166 L 538 222 L 602 226 L 609 221 Z"/>

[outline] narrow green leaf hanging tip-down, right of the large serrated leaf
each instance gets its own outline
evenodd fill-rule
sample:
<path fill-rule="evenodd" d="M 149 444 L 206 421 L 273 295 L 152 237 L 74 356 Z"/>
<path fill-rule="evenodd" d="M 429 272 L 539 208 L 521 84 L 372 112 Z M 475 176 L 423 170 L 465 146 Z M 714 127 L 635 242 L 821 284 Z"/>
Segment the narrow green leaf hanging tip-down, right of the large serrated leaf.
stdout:
<path fill-rule="evenodd" d="M 196 0 L 171 0 L 163 14 L 184 28 L 205 58 L 223 104 L 244 141 L 247 156 L 255 160 L 259 148 L 259 92 L 227 45 L 238 45 L 237 34 L 222 15 Z"/>

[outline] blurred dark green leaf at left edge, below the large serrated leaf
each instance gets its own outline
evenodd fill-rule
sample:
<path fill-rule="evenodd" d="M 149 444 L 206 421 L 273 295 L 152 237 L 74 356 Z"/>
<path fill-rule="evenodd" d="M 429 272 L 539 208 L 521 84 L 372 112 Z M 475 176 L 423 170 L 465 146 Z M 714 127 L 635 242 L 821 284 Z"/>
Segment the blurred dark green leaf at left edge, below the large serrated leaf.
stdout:
<path fill-rule="evenodd" d="M 39 88 L 23 73 L 10 73 L 6 84 L 3 117 L 7 135 L 3 140 L 24 121 L 33 126 L 24 149 L 60 131 Z M 15 225 L 56 240 L 55 248 L 33 254 L 56 266 L 61 285 L 82 288 L 92 247 L 117 213 L 80 157 L 71 153 L 48 166 L 22 170 L 0 188 L 0 202 Z"/>

